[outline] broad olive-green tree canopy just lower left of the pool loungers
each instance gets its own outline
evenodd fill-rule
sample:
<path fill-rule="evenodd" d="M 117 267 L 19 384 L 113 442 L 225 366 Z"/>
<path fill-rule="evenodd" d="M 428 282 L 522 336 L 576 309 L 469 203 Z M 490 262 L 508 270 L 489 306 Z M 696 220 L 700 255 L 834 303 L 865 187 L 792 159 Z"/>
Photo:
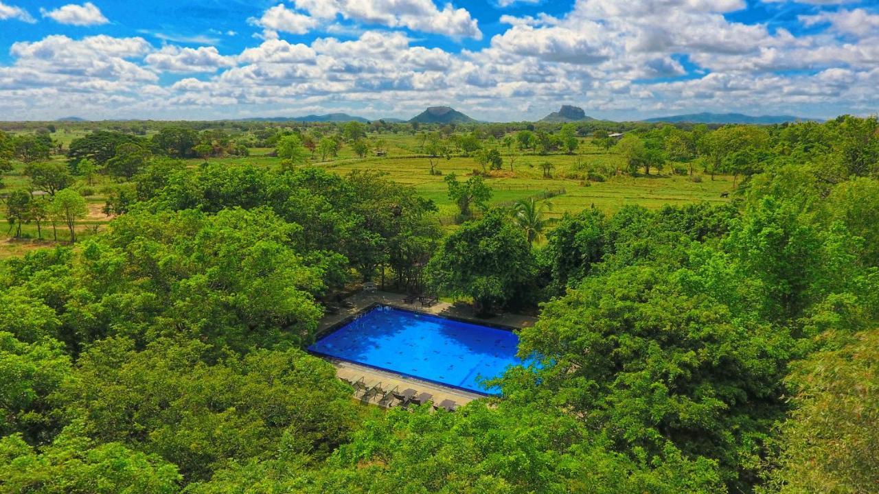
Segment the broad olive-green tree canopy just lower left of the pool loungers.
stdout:
<path fill-rule="evenodd" d="M 159 339 L 139 352 L 107 338 L 79 360 L 62 391 L 66 412 L 89 437 L 156 454 L 188 481 L 281 448 L 319 461 L 347 439 L 351 389 L 329 363 L 295 349 L 208 363 L 209 352 L 194 340 Z"/>

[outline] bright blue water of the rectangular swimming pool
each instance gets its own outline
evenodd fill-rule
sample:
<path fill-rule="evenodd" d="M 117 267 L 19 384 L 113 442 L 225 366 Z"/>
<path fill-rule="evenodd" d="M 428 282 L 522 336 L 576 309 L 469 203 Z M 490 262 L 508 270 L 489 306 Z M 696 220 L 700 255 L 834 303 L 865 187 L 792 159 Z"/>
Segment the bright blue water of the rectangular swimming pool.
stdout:
<path fill-rule="evenodd" d="M 516 357 L 512 331 L 377 307 L 309 346 L 312 352 L 483 394 Z"/>

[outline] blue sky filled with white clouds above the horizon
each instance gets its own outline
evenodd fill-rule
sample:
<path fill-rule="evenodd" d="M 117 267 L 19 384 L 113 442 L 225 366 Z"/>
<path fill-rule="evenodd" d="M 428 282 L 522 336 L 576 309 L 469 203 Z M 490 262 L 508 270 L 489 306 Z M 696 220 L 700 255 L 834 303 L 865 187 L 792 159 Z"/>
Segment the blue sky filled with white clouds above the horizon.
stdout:
<path fill-rule="evenodd" d="M 0 0 L 0 120 L 879 112 L 879 0 Z"/>

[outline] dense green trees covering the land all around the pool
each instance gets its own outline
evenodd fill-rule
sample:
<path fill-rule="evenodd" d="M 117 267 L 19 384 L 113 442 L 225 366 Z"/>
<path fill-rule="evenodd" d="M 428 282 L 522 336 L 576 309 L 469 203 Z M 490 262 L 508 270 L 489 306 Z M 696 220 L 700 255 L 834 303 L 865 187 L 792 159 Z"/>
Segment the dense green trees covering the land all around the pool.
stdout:
<path fill-rule="evenodd" d="M 7 220 L 69 226 L 70 243 L 0 267 L 0 492 L 879 486 L 875 118 L 119 123 L 70 142 L 61 167 L 48 130 L 5 125 L 0 167 L 26 163 L 46 193 L 10 194 Z M 425 132 L 438 161 L 485 153 L 473 175 L 446 175 L 460 224 L 381 173 L 313 166 L 395 132 Z M 512 166 L 516 153 L 576 153 L 577 139 L 621 156 L 584 177 L 723 173 L 733 200 L 551 222 L 547 197 L 488 201 L 486 149 Z M 256 145 L 276 147 L 279 166 L 207 160 Z M 89 174 L 118 178 L 106 203 L 118 216 L 74 243 L 72 180 Z M 539 365 L 454 413 L 363 408 L 302 348 L 364 280 L 539 312 L 519 331 Z"/>

